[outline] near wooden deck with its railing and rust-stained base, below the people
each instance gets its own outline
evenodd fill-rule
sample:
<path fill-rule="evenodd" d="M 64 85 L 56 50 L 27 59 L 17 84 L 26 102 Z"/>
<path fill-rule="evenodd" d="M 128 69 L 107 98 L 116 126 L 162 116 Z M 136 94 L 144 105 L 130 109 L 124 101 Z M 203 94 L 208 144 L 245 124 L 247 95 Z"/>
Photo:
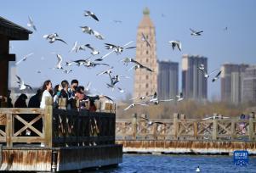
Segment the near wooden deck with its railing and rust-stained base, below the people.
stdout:
<path fill-rule="evenodd" d="M 0 109 L 0 170 L 60 171 L 122 163 L 116 114 L 53 109 Z M 30 131 L 30 134 L 29 134 Z M 41 147 L 43 145 L 43 147 Z"/>

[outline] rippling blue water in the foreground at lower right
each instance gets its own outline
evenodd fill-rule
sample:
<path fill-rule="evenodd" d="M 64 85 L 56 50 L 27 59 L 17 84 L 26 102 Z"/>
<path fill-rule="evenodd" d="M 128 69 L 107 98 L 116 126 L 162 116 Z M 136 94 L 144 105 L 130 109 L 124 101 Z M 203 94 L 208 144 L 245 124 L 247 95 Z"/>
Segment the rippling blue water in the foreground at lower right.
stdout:
<path fill-rule="evenodd" d="M 96 170 L 96 172 L 256 172 L 256 157 L 249 156 L 249 165 L 233 165 L 233 156 L 206 155 L 141 155 L 124 154 L 122 164 L 115 169 Z"/>

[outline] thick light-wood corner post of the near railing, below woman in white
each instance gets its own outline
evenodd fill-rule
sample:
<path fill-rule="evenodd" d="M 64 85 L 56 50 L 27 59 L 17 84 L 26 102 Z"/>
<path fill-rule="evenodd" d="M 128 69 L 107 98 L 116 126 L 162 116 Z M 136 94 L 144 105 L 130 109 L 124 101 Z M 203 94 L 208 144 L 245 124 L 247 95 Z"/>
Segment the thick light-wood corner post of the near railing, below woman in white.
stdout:
<path fill-rule="evenodd" d="M 53 98 L 47 97 L 45 99 L 44 119 L 43 119 L 43 132 L 45 139 L 45 147 L 51 148 L 53 145 Z"/>

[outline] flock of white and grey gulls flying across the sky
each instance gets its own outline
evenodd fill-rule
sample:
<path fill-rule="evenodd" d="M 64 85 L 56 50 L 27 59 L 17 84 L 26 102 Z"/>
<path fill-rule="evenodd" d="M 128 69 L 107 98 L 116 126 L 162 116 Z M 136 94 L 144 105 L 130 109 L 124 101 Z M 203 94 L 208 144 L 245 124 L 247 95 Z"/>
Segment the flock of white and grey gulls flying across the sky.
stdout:
<path fill-rule="evenodd" d="M 96 14 L 94 14 L 94 12 L 92 12 L 92 11 L 86 10 L 86 11 L 84 11 L 83 15 L 85 17 L 91 17 L 93 20 L 96 20 L 98 22 L 100 21 L 99 18 L 96 16 Z M 115 22 L 120 23 L 122 21 L 117 20 Z M 34 31 L 37 31 L 37 27 L 34 24 L 31 17 L 29 17 L 29 23 L 27 24 L 27 26 L 33 28 Z M 99 31 L 95 31 L 87 25 L 80 26 L 80 28 L 82 29 L 82 33 L 85 33 L 85 34 L 88 34 L 88 35 L 91 35 L 91 36 L 95 36 L 95 38 L 97 38 L 99 40 L 104 40 L 105 39 L 105 37 L 102 36 Z M 191 31 L 191 36 L 202 36 L 202 32 L 203 32 L 203 31 L 195 31 L 195 30 L 192 30 L 191 28 L 190 28 L 190 31 Z M 48 41 L 51 44 L 54 43 L 54 42 L 62 42 L 62 43 L 67 45 L 67 42 L 65 42 L 61 38 L 61 36 L 59 36 L 59 34 L 56 33 L 56 32 L 46 34 L 46 35 L 43 36 L 43 38 L 46 39 L 46 41 Z M 143 32 L 141 33 L 141 41 L 145 42 L 145 45 L 147 47 L 151 48 L 151 42 L 149 42 L 148 36 L 145 36 L 145 33 L 143 33 Z M 99 66 L 99 65 L 108 66 L 107 70 L 101 71 L 97 75 L 106 75 L 106 76 L 109 77 L 110 82 L 106 83 L 106 87 L 110 88 L 111 91 L 114 91 L 114 89 L 117 88 L 119 92 L 125 92 L 120 86 L 117 86 L 117 84 L 120 83 L 121 78 L 129 78 L 129 77 L 124 76 L 124 75 L 112 75 L 114 68 L 112 66 L 110 67 L 110 64 L 105 64 L 105 63 L 101 63 L 101 62 L 105 58 L 107 58 L 111 53 L 116 53 L 118 55 L 118 54 L 122 54 L 122 52 L 124 50 L 136 48 L 136 47 L 128 47 L 128 45 L 130 45 L 132 42 L 133 41 L 127 42 L 122 46 L 119 46 L 119 45 L 116 45 L 116 44 L 113 44 L 113 43 L 105 43 L 105 49 L 109 50 L 110 52 L 106 53 L 103 56 L 100 56 L 100 58 L 92 60 L 93 57 L 100 54 L 100 51 L 97 50 L 97 48 L 93 47 L 90 44 L 79 45 L 76 41 L 76 42 L 74 42 L 74 45 L 71 47 L 71 50 L 69 52 L 70 53 L 78 53 L 80 51 L 85 51 L 86 49 L 88 49 L 88 50 L 90 50 L 91 56 L 88 57 L 87 59 L 76 59 L 76 60 L 72 60 L 72 61 L 65 61 L 65 66 L 64 66 L 63 57 L 60 55 L 60 53 L 56 53 L 57 63 L 54 66 L 54 68 L 51 68 L 51 69 L 62 70 L 63 73 L 69 74 L 69 73 L 72 72 L 72 70 L 67 69 L 67 68 L 70 68 L 72 65 L 84 66 L 84 67 L 87 67 L 87 68 L 94 68 L 94 67 Z M 173 41 L 170 41 L 169 43 L 171 44 L 173 50 L 174 50 L 175 47 L 177 47 L 179 49 L 179 51 L 181 51 L 182 47 L 181 47 L 181 42 L 180 41 L 173 40 Z M 16 63 L 16 65 L 20 64 L 23 61 L 26 61 L 26 59 L 31 57 L 31 55 L 33 55 L 33 53 L 27 54 L 23 59 L 20 59 L 20 61 L 18 61 Z M 150 67 L 147 67 L 145 64 L 139 63 L 138 61 L 136 61 L 133 58 L 124 58 L 124 59 L 121 60 L 121 62 L 126 66 L 128 66 L 128 64 L 133 64 L 133 66 L 130 69 L 128 69 L 128 71 L 130 71 L 130 70 L 139 70 L 140 69 L 140 70 L 146 70 L 150 73 L 154 72 L 153 70 L 151 70 Z M 202 74 L 204 75 L 205 78 L 209 78 L 209 76 L 212 75 L 218 69 L 213 70 L 212 72 L 208 73 L 207 70 L 205 70 L 205 68 L 204 68 L 204 64 L 200 64 L 200 66 L 198 66 L 198 70 L 202 71 Z M 37 71 L 37 72 L 40 73 L 40 71 Z M 220 74 L 221 74 L 221 70 L 219 70 L 218 74 L 213 77 L 212 81 L 217 81 L 219 79 Z M 18 81 L 16 81 L 16 82 L 20 86 L 20 90 L 25 90 L 26 88 L 31 89 L 31 86 L 26 84 L 25 81 L 23 81 L 20 78 L 20 76 L 17 75 L 16 77 L 18 79 Z M 124 110 L 134 108 L 136 105 L 149 106 L 151 103 L 152 104 L 159 104 L 159 103 L 162 103 L 162 102 L 170 102 L 170 101 L 174 100 L 174 98 L 161 100 L 157 97 L 156 92 L 154 94 L 150 95 L 150 96 L 142 96 L 142 97 L 139 97 L 139 98 L 131 98 L 131 100 L 136 100 L 136 99 L 139 99 L 140 101 L 144 101 L 144 102 L 143 103 L 132 103 L 127 108 L 125 108 Z M 183 98 L 183 93 L 182 92 L 180 92 L 179 95 L 176 96 L 176 98 L 175 98 L 175 100 L 177 102 L 180 102 L 183 99 L 184 98 Z"/>

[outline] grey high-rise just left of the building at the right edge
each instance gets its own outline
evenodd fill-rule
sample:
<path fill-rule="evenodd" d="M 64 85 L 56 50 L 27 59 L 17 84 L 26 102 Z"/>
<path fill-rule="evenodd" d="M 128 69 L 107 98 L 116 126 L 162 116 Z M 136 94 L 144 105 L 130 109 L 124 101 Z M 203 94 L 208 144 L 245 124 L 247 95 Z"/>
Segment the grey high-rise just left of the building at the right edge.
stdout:
<path fill-rule="evenodd" d="M 223 64 L 221 66 L 221 101 L 226 103 L 242 102 L 242 82 L 247 64 Z"/>

